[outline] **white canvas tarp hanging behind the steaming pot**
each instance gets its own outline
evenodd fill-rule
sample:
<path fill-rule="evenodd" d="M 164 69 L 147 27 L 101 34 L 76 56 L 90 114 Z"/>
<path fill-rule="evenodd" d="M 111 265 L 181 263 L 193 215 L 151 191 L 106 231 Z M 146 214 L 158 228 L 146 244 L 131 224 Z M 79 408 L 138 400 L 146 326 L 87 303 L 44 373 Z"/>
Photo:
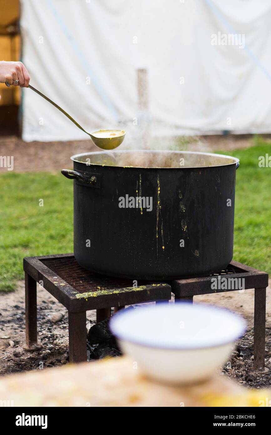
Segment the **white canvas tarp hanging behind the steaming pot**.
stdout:
<path fill-rule="evenodd" d="M 270 22 L 270 0 L 21 0 L 22 60 L 88 131 L 140 128 L 147 68 L 152 135 L 268 133 Z M 87 136 L 24 89 L 23 139 Z"/>

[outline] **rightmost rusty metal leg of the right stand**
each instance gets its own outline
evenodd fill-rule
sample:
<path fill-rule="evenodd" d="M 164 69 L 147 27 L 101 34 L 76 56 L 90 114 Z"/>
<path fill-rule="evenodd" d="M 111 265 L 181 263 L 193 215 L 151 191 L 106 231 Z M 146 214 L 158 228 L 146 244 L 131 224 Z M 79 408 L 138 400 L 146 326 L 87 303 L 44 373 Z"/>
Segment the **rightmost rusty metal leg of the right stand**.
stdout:
<path fill-rule="evenodd" d="M 254 290 L 254 370 L 264 370 L 266 288 Z"/>

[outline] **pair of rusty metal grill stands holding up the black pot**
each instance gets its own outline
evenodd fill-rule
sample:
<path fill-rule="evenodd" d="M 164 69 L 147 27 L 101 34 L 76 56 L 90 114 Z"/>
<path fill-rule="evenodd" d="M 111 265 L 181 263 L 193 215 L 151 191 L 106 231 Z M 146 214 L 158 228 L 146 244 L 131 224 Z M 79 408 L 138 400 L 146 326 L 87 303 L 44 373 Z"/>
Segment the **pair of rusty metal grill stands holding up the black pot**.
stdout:
<path fill-rule="evenodd" d="M 203 278 L 189 278 L 166 282 L 137 283 L 122 278 L 111 278 L 95 274 L 82 268 L 73 254 L 47 255 L 24 258 L 26 298 L 26 346 L 27 350 L 40 347 L 37 342 L 37 282 L 60 301 L 69 312 L 69 355 L 70 361 L 85 361 L 86 311 L 97 310 L 97 321 L 110 317 L 125 305 L 149 301 L 168 301 L 171 291 L 175 302 L 193 302 L 198 294 L 213 294 L 232 290 L 212 290 L 211 279 L 229 276 L 244 278 L 244 289 L 254 288 L 254 369 L 264 369 L 265 355 L 265 305 L 268 274 L 244 264 L 232 261 L 219 274 Z M 237 289 L 238 290 L 238 289 Z"/>

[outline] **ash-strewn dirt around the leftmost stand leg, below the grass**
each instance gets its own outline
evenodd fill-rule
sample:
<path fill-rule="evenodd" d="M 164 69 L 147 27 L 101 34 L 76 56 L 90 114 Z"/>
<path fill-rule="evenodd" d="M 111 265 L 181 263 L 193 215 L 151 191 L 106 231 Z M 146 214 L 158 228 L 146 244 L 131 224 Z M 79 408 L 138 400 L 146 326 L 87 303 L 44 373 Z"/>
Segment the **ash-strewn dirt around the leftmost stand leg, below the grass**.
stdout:
<path fill-rule="evenodd" d="M 43 288 L 38 289 L 38 338 L 40 351 L 23 350 L 25 341 L 24 282 L 11 293 L 0 293 L 0 374 L 50 367 L 67 362 L 67 310 Z M 61 321 L 53 323 L 55 312 L 63 313 Z M 10 346 L 10 340 L 12 343 Z"/>

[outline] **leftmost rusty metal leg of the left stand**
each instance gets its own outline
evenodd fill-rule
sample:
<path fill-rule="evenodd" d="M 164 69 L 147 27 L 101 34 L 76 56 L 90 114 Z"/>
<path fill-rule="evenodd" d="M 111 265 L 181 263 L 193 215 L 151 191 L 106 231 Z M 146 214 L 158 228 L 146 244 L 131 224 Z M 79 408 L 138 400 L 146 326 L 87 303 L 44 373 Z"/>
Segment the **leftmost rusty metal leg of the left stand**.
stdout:
<path fill-rule="evenodd" d="M 37 283 L 25 272 L 25 338 L 27 351 L 40 349 L 37 342 Z"/>

